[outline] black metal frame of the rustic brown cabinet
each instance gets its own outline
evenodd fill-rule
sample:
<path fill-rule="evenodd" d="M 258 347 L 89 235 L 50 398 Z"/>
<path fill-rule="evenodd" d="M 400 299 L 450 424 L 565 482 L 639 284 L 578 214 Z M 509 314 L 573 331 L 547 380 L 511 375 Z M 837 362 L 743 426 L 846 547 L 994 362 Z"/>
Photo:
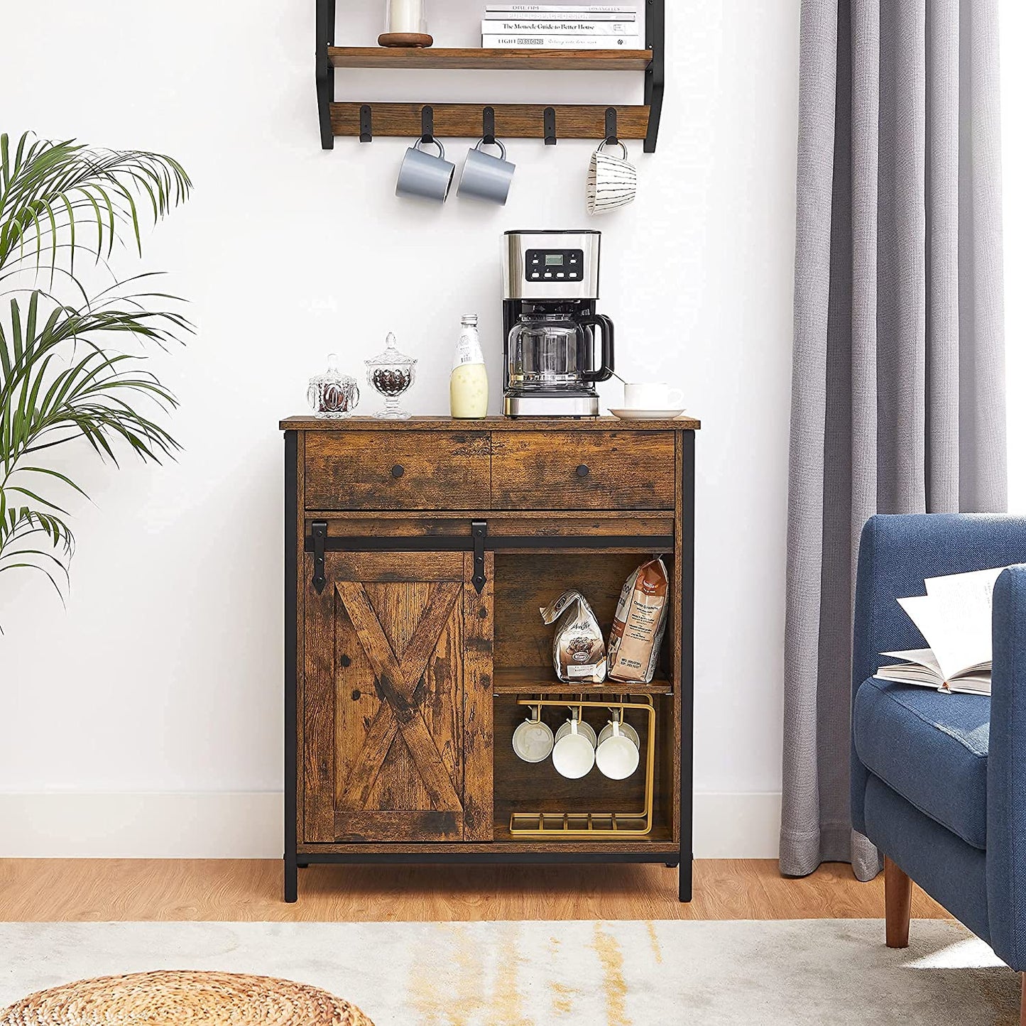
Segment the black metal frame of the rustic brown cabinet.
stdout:
<path fill-rule="evenodd" d="M 681 635 L 680 635 L 680 859 L 674 863 L 666 851 L 623 852 L 496 852 L 486 844 L 470 845 L 466 852 L 303 852 L 299 853 L 297 793 L 299 784 L 299 551 L 300 506 L 297 477 L 297 432 L 285 432 L 285 853 L 284 897 L 294 902 L 298 897 L 299 869 L 308 865 L 564 865 L 602 863 L 664 863 L 678 870 L 678 897 L 689 902 L 693 894 L 693 816 L 695 764 L 695 432 L 680 434 L 683 446 L 682 515 L 683 536 L 680 551 L 675 550 L 670 535 L 605 536 L 562 538 L 503 537 L 488 535 L 485 521 L 474 521 L 466 538 L 346 538 L 331 537 L 326 521 L 316 521 L 324 530 L 306 536 L 304 551 L 312 552 L 315 562 L 322 552 L 437 552 L 516 549 L 638 549 L 650 552 L 673 552 L 681 567 Z M 316 574 L 316 567 L 315 567 Z"/>

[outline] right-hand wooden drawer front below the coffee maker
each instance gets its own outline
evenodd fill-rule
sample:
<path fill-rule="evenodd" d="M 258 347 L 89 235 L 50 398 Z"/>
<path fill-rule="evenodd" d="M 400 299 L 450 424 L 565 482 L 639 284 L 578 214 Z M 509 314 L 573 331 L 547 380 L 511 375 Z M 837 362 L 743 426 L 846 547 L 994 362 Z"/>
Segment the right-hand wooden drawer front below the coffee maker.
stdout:
<path fill-rule="evenodd" d="M 672 431 L 497 431 L 494 509 L 672 510 Z"/>

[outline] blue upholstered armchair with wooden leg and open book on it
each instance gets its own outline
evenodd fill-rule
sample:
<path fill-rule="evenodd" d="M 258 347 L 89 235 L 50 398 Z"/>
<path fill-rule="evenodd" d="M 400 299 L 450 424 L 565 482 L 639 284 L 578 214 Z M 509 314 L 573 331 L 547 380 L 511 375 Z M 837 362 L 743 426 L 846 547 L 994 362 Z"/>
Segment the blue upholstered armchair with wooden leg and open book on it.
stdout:
<path fill-rule="evenodd" d="M 855 609 L 852 819 L 885 856 L 890 947 L 908 944 L 914 880 L 1022 973 L 1026 566 L 1005 570 L 994 590 L 990 699 L 873 677 L 879 653 L 924 644 L 898 597 L 923 594 L 928 577 L 1013 563 L 1026 563 L 1026 519 L 923 514 L 866 524 Z"/>

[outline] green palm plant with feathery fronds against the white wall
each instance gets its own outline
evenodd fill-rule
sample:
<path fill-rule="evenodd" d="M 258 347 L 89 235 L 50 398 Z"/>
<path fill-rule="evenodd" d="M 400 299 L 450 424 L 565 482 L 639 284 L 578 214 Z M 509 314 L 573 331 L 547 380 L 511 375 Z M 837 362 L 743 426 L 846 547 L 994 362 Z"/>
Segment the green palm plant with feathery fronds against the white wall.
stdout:
<path fill-rule="evenodd" d="M 176 401 L 145 369 L 146 348 L 192 326 L 177 298 L 141 290 L 150 274 L 119 280 L 110 260 L 125 235 L 142 254 L 141 221 L 191 190 L 160 154 L 0 135 L 0 575 L 40 571 L 64 596 L 63 504 L 85 491 L 47 450 L 84 439 L 117 465 L 118 449 L 160 463 L 179 448 L 159 423 Z M 90 287 L 101 276 L 112 284 Z"/>

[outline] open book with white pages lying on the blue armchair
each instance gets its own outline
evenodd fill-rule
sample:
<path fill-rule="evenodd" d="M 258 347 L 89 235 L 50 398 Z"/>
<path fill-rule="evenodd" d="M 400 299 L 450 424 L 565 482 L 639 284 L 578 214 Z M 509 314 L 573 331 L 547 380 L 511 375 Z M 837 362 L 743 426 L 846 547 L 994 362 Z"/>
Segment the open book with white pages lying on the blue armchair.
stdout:
<path fill-rule="evenodd" d="M 925 595 L 899 598 L 930 647 L 880 653 L 905 662 L 881 666 L 876 676 L 941 692 L 989 695 L 994 584 L 1002 569 L 928 578 Z"/>

